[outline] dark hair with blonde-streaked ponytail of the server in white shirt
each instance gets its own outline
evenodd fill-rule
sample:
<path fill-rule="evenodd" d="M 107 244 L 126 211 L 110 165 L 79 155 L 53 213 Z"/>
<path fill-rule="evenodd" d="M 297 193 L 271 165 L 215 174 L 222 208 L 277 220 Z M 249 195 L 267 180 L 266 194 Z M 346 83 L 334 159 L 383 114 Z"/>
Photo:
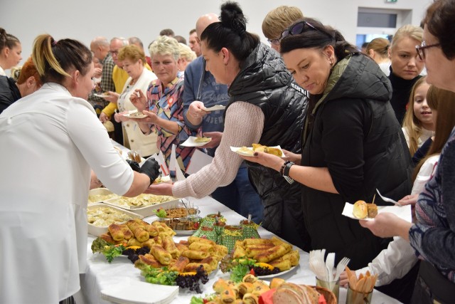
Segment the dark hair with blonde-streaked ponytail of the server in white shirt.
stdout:
<path fill-rule="evenodd" d="M 72 70 L 79 70 L 81 75 L 86 75 L 92 64 L 92 52 L 87 46 L 73 39 L 55 41 L 48 34 L 36 37 L 32 58 L 41 83 L 52 81 L 63 84 Z"/>

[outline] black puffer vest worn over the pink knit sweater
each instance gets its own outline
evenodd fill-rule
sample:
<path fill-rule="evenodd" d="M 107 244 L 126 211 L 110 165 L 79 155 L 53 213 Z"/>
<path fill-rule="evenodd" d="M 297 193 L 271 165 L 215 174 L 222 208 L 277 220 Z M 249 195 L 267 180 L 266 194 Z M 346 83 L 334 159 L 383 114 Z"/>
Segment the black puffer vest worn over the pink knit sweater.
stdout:
<path fill-rule="evenodd" d="M 228 107 L 240 100 L 257 105 L 264 112 L 264 130 L 259 144 L 280 145 L 291 152 L 300 152 L 307 100 L 304 90 L 292 83 L 277 52 L 259 43 L 242 64 L 228 93 Z M 309 241 L 306 239 L 304 243 L 306 230 L 299 185 L 288 184 L 273 169 L 247 164 L 250 180 L 264 204 L 264 228 L 296 246 L 308 248 Z"/>

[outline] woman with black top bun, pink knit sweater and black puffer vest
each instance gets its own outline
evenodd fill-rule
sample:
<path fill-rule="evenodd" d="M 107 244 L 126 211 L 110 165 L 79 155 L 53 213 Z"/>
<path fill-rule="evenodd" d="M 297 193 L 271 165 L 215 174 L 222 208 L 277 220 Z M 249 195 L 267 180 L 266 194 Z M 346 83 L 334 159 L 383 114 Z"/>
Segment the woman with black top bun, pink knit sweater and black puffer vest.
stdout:
<path fill-rule="evenodd" d="M 278 53 L 246 31 L 246 18 L 238 4 L 225 2 L 220 22 L 207 26 L 200 41 L 206 68 L 217 83 L 229 85 L 223 137 L 210 164 L 184 182 L 151 187 L 154 194 L 203 197 L 230 184 L 243 161 L 230 146 L 259 143 L 299 152 L 306 98 L 292 83 Z M 262 226 L 308 251 L 300 187 L 272 169 L 252 163 L 247 166 L 264 206 Z"/>

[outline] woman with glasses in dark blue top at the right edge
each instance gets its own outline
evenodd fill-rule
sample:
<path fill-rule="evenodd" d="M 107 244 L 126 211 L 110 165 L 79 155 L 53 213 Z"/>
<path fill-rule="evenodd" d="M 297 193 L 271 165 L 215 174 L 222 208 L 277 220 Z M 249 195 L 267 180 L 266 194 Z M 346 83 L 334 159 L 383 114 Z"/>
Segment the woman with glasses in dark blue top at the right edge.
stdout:
<path fill-rule="evenodd" d="M 437 0 L 424 17 L 417 53 L 427 68 L 427 83 L 455 92 L 455 0 Z M 440 100 L 441 103 L 449 103 Z M 439 120 L 439 116 L 437 117 Z M 439 123 L 439 121 L 438 121 Z M 421 261 L 412 303 L 453 303 L 455 298 L 455 130 L 442 148 L 434 176 L 415 206 L 414 224 L 394 214 L 379 214 L 360 224 L 377 236 L 401 236 Z"/>

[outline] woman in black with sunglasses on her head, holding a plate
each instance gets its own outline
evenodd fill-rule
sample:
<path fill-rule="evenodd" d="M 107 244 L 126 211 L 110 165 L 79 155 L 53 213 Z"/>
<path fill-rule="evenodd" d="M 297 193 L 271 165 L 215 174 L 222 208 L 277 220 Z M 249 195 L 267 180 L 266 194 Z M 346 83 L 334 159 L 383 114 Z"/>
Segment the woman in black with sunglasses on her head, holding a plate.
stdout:
<path fill-rule="evenodd" d="M 390 239 L 341 215 L 345 202 L 373 201 L 376 188 L 395 199 L 411 191 L 411 159 L 390 107 L 390 82 L 371 58 L 315 19 L 285 30 L 281 51 L 296 83 L 311 94 L 302 152 L 288 160 L 261 152 L 245 159 L 301 184 L 312 248 L 347 256 L 354 269 L 366 266 Z"/>

